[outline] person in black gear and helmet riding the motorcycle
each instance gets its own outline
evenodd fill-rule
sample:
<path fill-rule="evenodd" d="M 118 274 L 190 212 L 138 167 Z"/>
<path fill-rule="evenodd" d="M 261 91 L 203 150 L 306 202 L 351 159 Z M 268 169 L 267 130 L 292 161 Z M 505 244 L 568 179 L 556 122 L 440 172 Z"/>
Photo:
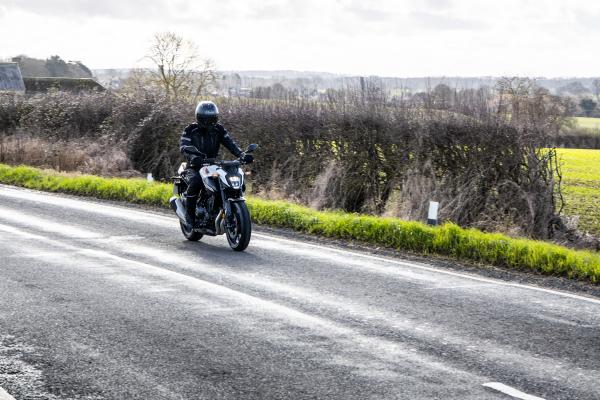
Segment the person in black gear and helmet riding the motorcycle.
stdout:
<path fill-rule="evenodd" d="M 188 125 L 179 140 L 179 149 L 187 160 L 187 168 L 182 176 L 188 185 L 185 192 L 185 222 L 188 226 L 194 226 L 198 195 L 204 188 L 198 170 L 205 158 L 216 158 L 219 147 L 223 144 L 240 160 L 246 163 L 254 161 L 252 154 L 244 153 L 218 120 L 219 109 L 216 104 L 212 101 L 201 101 L 196 106 L 196 123 Z"/>

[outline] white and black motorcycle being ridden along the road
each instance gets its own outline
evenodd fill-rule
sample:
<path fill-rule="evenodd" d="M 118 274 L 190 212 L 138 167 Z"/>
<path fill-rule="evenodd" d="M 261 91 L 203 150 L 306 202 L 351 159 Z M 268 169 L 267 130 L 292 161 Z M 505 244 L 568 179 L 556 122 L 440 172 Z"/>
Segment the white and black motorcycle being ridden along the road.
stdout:
<path fill-rule="evenodd" d="M 251 144 L 246 153 L 252 153 L 257 148 L 257 144 Z M 244 171 L 241 168 L 244 164 L 242 160 L 227 161 L 214 158 L 203 160 L 199 173 L 205 189 L 200 192 L 196 205 L 196 224 L 188 226 L 185 223 L 184 198 L 187 183 L 183 176 L 187 163 L 181 163 L 177 176 L 172 178 L 173 197 L 169 199 L 169 204 L 179 217 L 181 232 L 187 240 L 195 242 L 204 235 L 225 234 L 233 250 L 244 251 L 248 247 L 252 226 L 244 198 L 246 185 Z"/>

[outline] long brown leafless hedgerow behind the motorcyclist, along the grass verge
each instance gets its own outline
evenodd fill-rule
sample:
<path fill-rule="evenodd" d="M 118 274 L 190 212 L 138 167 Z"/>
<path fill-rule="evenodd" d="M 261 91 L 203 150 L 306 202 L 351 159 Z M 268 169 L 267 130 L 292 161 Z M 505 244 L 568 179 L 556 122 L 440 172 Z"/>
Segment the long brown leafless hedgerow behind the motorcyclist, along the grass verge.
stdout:
<path fill-rule="evenodd" d="M 260 145 L 248 166 L 255 193 L 408 220 L 434 200 L 441 219 L 463 227 L 555 235 L 556 154 L 538 149 L 560 126 L 560 102 L 534 88 L 515 98 L 513 81 L 411 99 L 363 83 L 318 98 L 214 99 L 238 143 Z M 0 94 L 0 162 L 167 179 L 194 106 L 144 90 Z"/>

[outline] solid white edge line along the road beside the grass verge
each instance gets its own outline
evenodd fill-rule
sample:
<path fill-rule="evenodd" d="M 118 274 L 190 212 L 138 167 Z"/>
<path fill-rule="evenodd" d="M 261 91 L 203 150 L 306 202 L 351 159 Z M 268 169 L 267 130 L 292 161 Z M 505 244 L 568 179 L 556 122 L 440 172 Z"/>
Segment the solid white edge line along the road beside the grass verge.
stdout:
<path fill-rule="evenodd" d="M 73 208 L 73 209 L 77 209 L 77 210 L 81 210 L 81 211 L 93 212 L 93 213 L 102 214 L 102 215 L 108 215 L 108 216 L 112 216 L 115 218 L 128 219 L 128 220 L 136 221 L 136 223 L 138 223 L 140 225 L 143 225 L 144 223 L 151 223 L 151 224 L 158 225 L 158 226 L 168 226 L 171 228 L 177 227 L 177 225 L 175 224 L 177 218 L 175 216 L 167 217 L 164 215 L 159 215 L 159 214 L 155 214 L 155 213 L 151 213 L 151 212 L 138 211 L 138 210 L 128 208 L 125 206 L 105 205 L 105 204 L 100 204 L 100 203 L 94 203 L 89 200 L 78 200 L 78 199 L 75 200 L 75 199 L 68 198 L 68 197 L 60 197 L 57 194 L 52 194 L 52 195 L 42 194 L 40 192 L 31 191 L 28 189 L 13 188 L 13 187 L 9 187 L 6 185 L 0 185 L 0 196 L 6 196 L 6 197 L 12 197 L 12 198 L 23 198 L 23 192 L 30 193 L 30 195 L 28 196 L 29 201 L 35 200 L 36 202 L 39 202 L 39 203 L 51 204 L 51 205 L 55 205 L 55 206 L 62 207 L 62 208 Z M 401 265 L 404 267 L 415 268 L 415 269 L 430 271 L 430 272 L 449 275 L 449 276 L 455 276 L 455 277 L 464 278 L 464 279 L 470 279 L 470 280 L 474 280 L 474 281 L 478 281 L 478 282 L 491 283 L 491 284 L 495 284 L 495 285 L 509 286 L 509 287 L 515 287 L 515 288 L 520 288 L 520 289 L 526 289 L 526 290 L 533 290 L 533 291 L 548 293 L 548 294 L 552 294 L 552 295 L 556 295 L 556 296 L 581 300 L 581 301 L 585 301 L 585 302 L 589 302 L 589 303 L 600 304 L 600 299 L 581 296 L 581 295 L 577 295 L 577 294 L 573 294 L 573 293 L 561 292 L 561 291 L 552 290 L 552 289 L 546 289 L 546 288 L 537 287 L 537 286 L 525 285 L 525 284 L 521 284 L 521 283 L 505 282 L 505 281 L 495 280 L 495 279 L 491 279 L 491 278 L 484 278 L 484 277 L 460 273 L 460 272 L 448 271 L 448 270 L 437 268 L 434 266 L 429 266 L 427 264 L 417 264 L 417 263 L 408 262 L 408 261 L 394 260 L 394 259 L 390 259 L 390 258 L 374 256 L 371 254 L 358 253 L 358 252 L 354 252 L 354 251 L 350 251 L 350 250 L 343 250 L 343 249 L 337 249 L 337 248 L 329 247 L 329 246 L 323 246 L 323 245 L 318 245 L 318 244 L 313 244 L 313 243 L 302 242 L 299 240 L 283 239 L 283 238 L 265 234 L 265 233 L 253 233 L 252 235 L 254 237 L 262 237 L 262 238 L 268 239 L 268 240 L 275 240 L 278 242 L 290 243 L 293 246 L 295 246 L 295 248 L 298 248 L 298 246 L 306 246 L 309 248 L 316 248 L 316 249 L 324 250 L 328 253 L 337 253 L 337 254 L 341 254 L 344 256 L 350 256 L 350 257 L 360 257 L 360 258 L 367 259 L 367 260 L 373 260 L 373 261 L 378 261 L 378 262 L 383 262 L 383 263 L 388 263 L 388 264 Z M 460 262 L 460 261 L 457 261 L 457 262 Z"/>

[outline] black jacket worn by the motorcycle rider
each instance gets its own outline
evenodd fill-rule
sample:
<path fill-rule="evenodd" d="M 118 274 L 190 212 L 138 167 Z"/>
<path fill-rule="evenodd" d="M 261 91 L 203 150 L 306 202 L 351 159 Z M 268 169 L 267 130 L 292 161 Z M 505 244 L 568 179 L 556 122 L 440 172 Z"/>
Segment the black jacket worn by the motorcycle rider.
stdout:
<path fill-rule="evenodd" d="M 198 124 L 191 124 L 181 133 L 179 150 L 190 163 L 192 158 L 198 155 L 195 154 L 195 150 L 204 153 L 203 158 L 216 158 L 221 144 L 236 157 L 240 157 L 243 153 L 223 125 L 216 124 L 205 128 Z"/>

